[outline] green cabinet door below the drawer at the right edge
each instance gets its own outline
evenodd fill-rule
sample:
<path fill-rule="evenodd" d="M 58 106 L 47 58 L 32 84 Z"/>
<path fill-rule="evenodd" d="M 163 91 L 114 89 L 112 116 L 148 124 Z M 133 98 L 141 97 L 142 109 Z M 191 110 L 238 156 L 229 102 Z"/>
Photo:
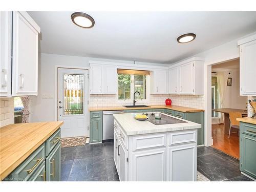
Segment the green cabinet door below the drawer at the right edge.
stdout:
<path fill-rule="evenodd" d="M 248 175 L 256 178 L 256 137 L 241 134 L 242 143 L 240 145 L 241 150 L 241 169 Z"/>

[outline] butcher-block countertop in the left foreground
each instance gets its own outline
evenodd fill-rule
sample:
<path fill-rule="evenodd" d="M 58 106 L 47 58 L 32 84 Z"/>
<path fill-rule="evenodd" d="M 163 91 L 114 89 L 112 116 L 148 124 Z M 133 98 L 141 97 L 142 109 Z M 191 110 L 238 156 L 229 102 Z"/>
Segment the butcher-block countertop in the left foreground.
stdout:
<path fill-rule="evenodd" d="M 0 128 L 0 181 L 44 143 L 63 121 L 17 123 Z"/>

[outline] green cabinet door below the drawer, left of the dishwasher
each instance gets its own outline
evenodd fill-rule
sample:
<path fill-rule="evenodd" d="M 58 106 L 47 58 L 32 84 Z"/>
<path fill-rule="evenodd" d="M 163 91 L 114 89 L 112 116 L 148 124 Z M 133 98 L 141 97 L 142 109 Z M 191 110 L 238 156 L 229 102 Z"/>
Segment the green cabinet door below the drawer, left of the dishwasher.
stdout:
<path fill-rule="evenodd" d="M 101 118 L 91 119 L 90 122 L 90 143 L 97 143 L 102 141 Z"/>

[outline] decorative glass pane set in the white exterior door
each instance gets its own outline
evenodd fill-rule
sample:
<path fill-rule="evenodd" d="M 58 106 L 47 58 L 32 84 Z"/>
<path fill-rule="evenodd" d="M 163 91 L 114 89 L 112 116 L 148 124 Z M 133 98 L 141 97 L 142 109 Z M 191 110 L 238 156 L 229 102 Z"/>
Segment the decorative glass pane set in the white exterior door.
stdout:
<path fill-rule="evenodd" d="M 64 114 L 83 114 L 84 75 L 64 74 Z"/>

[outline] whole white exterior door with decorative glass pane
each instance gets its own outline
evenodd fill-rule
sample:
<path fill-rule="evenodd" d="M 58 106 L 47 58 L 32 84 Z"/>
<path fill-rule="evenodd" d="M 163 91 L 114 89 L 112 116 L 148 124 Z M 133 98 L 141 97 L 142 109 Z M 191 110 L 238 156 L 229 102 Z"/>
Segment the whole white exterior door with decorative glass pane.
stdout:
<path fill-rule="evenodd" d="M 58 68 L 61 137 L 88 136 L 88 70 Z"/>

